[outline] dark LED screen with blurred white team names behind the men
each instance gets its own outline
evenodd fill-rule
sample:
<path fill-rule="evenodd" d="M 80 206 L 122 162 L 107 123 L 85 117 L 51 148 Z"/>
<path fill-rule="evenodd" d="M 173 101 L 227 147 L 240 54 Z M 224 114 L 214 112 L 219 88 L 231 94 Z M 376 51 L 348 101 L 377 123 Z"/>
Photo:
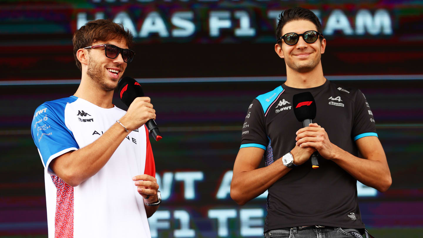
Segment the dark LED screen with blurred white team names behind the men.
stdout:
<path fill-rule="evenodd" d="M 376 237 L 417 237 L 423 230 L 421 3 L 0 4 L 5 53 L 0 58 L 5 69 L 0 76 L 0 236 L 47 234 L 43 168 L 30 121 L 42 102 L 74 94 L 80 72 L 71 54 L 72 33 L 85 20 L 107 17 L 135 29 L 136 56 L 126 75 L 137 78 L 152 98 L 164 136 L 152 141 L 164 197 L 149 220 L 153 237 L 260 237 L 265 196 L 238 206 L 228 196 L 228 185 L 248 105 L 285 80 L 285 64 L 274 53 L 273 16 L 293 6 L 313 9 L 321 19 L 327 78 L 360 88 L 376 119 L 393 185 L 383 194 L 358 186 L 363 221 Z M 187 34 L 189 25 L 195 26 L 190 36 L 175 36 Z M 253 36 L 239 35 L 252 30 Z M 113 103 L 126 109 L 117 97 Z"/>

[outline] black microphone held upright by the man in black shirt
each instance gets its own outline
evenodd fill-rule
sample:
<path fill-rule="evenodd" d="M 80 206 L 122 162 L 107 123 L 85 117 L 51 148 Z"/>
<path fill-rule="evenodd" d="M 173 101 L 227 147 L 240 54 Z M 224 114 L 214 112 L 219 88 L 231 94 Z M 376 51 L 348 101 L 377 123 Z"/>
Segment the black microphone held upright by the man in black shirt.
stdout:
<path fill-rule="evenodd" d="M 303 127 L 308 127 L 312 123 L 311 120 L 316 118 L 316 102 L 310 92 L 295 94 L 292 98 L 292 105 L 294 106 L 295 117 L 299 122 L 302 122 Z M 317 155 L 319 155 L 317 151 L 311 155 L 313 169 L 319 168 Z"/>

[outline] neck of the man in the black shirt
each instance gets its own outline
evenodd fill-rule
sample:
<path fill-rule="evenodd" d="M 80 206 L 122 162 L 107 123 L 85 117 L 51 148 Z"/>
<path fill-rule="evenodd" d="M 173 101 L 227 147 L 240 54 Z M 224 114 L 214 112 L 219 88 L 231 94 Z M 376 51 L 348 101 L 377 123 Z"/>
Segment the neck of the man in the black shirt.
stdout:
<path fill-rule="evenodd" d="M 321 62 L 309 72 L 298 72 L 286 66 L 285 85 L 297 89 L 309 89 L 321 86 L 326 82 Z"/>

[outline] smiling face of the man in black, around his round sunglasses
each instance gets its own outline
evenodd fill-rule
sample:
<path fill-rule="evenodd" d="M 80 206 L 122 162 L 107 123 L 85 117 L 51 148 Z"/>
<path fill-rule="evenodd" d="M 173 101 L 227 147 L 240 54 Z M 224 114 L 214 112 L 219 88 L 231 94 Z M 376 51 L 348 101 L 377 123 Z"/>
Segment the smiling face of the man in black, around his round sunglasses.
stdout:
<path fill-rule="evenodd" d="M 308 20 L 294 20 L 286 23 L 282 28 L 282 36 L 286 33 L 302 34 L 308 30 L 316 30 L 316 25 Z M 324 53 L 326 40 L 307 43 L 302 36 L 297 44 L 288 45 L 285 42 L 275 45 L 276 53 L 285 59 L 287 68 L 297 72 L 310 72 L 320 64 L 321 54 Z"/>

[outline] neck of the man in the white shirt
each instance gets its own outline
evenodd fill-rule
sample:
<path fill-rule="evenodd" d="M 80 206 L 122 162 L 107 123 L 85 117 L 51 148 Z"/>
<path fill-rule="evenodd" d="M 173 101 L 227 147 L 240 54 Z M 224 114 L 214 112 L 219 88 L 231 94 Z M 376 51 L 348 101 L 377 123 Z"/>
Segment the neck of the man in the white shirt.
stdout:
<path fill-rule="evenodd" d="M 87 100 L 101 108 L 113 108 L 114 91 L 105 91 L 86 74 L 82 74 L 81 83 L 74 96 Z"/>

